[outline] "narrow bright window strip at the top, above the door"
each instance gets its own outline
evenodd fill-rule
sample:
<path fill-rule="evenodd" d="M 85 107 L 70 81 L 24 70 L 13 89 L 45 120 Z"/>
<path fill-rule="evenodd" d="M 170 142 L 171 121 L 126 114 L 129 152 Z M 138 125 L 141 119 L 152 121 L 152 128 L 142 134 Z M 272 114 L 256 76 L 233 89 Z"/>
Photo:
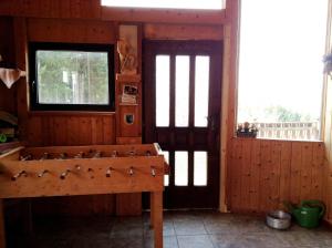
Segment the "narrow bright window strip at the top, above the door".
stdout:
<path fill-rule="evenodd" d="M 221 10 L 225 9 L 225 0 L 102 0 L 102 6 Z"/>

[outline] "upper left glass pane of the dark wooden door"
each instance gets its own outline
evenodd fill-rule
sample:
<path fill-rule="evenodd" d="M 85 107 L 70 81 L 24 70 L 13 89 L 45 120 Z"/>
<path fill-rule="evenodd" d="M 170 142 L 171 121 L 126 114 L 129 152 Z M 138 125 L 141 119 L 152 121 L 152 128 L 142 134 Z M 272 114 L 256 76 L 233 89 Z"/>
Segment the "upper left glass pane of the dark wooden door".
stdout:
<path fill-rule="evenodd" d="M 156 126 L 169 126 L 169 56 L 156 56 Z"/>

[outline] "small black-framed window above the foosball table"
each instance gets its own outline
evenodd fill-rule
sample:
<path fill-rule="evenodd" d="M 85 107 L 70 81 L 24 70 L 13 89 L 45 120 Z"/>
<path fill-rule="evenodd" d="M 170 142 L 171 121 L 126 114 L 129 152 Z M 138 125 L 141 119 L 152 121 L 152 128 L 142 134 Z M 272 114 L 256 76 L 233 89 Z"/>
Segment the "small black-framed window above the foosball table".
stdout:
<path fill-rule="evenodd" d="M 114 111 L 114 48 L 31 43 L 31 108 Z"/>

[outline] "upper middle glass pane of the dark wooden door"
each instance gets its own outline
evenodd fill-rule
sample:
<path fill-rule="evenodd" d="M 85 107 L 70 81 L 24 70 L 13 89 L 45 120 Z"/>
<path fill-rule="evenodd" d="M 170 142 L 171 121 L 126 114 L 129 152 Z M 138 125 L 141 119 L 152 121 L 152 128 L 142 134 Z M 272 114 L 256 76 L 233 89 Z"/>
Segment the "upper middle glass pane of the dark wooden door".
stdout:
<path fill-rule="evenodd" d="M 175 72 L 175 126 L 189 122 L 189 56 L 176 56 Z"/>

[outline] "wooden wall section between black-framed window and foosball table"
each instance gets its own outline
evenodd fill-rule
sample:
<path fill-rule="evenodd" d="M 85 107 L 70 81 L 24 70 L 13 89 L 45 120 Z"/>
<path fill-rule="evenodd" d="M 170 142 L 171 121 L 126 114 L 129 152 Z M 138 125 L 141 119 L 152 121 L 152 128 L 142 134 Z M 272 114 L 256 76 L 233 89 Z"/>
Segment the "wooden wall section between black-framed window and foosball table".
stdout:
<path fill-rule="evenodd" d="M 30 115 L 29 146 L 115 144 L 115 115 Z"/>

